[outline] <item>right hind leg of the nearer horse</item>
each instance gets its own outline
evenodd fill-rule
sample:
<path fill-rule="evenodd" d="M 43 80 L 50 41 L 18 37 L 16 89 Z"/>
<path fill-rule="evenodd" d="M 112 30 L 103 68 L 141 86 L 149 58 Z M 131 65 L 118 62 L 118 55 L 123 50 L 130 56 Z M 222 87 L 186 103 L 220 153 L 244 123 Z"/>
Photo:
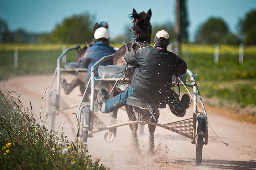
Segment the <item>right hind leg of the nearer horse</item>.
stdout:
<path fill-rule="evenodd" d="M 154 116 L 156 118 L 156 121 L 151 116 L 151 122 L 157 123 L 157 120 L 159 118 L 159 110 L 158 109 L 154 109 L 153 111 L 154 111 Z M 148 130 L 149 130 L 148 153 L 150 153 L 150 154 L 154 153 L 154 148 L 155 148 L 155 144 L 154 144 L 154 131 L 155 131 L 155 129 L 156 129 L 156 126 L 148 125 Z"/>

